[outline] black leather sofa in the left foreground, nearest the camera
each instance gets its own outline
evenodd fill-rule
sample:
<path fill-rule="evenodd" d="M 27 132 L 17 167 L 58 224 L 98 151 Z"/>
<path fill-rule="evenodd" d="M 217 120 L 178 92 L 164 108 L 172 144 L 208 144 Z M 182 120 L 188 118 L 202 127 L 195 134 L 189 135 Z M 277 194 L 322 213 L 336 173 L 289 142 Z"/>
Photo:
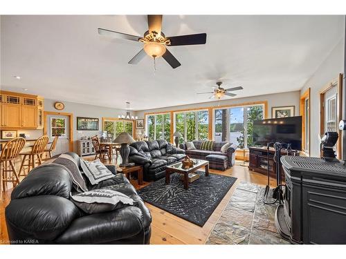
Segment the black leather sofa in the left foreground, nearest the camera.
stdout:
<path fill-rule="evenodd" d="M 77 154 L 75 162 L 80 164 Z M 152 216 L 115 166 L 114 177 L 88 189 L 113 189 L 128 195 L 136 206 L 85 214 L 69 200 L 72 182 L 66 169 L 50 164 L 24 178 L 6 207 L 8 236 L 13 244 L 149 244 Z M 87 183 L 88 180 L 86 180 Z"/>

